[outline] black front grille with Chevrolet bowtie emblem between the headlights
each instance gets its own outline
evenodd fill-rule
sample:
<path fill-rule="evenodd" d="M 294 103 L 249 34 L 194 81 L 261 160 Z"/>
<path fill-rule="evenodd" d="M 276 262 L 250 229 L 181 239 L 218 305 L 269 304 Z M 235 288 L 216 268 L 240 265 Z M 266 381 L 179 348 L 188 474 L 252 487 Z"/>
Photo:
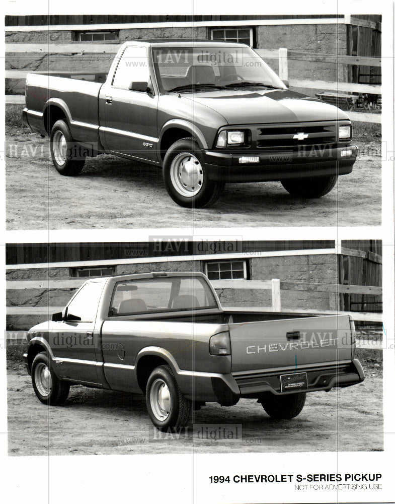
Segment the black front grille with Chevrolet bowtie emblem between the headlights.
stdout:
<path fill-rule="evenodd" d="M 337 142 L 338 124 L 323 122 L 321 124 L 299 123 L 279 124 L 256 129 L 256 147 L 258 149 L 290 149 L 295 150 L 303 146 L 327 146 Z M 307 135 L 306 138 L 293 138 L 296 135 Z"/>

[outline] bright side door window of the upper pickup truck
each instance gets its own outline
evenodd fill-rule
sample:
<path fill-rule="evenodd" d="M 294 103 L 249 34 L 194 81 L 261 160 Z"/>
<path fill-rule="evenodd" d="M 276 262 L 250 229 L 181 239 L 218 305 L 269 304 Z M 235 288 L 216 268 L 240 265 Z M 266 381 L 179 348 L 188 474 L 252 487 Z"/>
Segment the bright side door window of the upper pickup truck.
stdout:
<path fill-rule="evenodd" d="M 129 89 L 131 82 L 148 82 L 149 68 L 145 47 L 126 47 L 115 71 L 113 86 Z"/>

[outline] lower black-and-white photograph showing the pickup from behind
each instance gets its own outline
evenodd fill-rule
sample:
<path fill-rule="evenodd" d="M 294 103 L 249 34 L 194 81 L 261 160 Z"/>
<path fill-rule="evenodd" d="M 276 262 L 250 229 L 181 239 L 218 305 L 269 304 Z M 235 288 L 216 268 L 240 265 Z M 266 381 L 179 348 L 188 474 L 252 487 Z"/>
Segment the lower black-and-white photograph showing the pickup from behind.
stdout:
<path fill-rule="evenodd" d="M 381 249 L 8 244 L 9 454 L 382 450 Z"/>

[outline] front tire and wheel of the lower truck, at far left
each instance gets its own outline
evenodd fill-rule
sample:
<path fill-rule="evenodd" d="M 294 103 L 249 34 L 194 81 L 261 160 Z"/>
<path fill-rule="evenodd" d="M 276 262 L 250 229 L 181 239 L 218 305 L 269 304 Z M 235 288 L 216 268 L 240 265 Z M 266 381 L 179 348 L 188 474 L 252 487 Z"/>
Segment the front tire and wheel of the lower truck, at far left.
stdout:
<path fill-rule="evenodd" d="M 43 404 L 59 406 L 64 403 L 67 399 L 70 385 L 63 380 L 59 380 L 56 376 L 52 368 L 51 359 L 46 352 L 38 353 L 35 356 L 31 374 L 34 392 Z"/>

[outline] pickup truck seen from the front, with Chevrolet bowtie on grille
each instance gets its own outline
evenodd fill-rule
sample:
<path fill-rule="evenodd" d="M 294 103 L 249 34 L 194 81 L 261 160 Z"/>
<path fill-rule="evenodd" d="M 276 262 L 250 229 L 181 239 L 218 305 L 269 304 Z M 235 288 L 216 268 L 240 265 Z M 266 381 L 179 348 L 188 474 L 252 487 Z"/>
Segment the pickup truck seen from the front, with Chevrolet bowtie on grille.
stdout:
<path fill-rule="evenodd" d="M 62 175 L 111 153 L 162 168 L 181 206 L 212 205 L 226 182 L 277 180 L 319 198 L 352 171 L 348 115 L 288 89 L 245 44 L 125 42 L 106 74 L 28 74 L 23 120 L 50 138 Z"/>

